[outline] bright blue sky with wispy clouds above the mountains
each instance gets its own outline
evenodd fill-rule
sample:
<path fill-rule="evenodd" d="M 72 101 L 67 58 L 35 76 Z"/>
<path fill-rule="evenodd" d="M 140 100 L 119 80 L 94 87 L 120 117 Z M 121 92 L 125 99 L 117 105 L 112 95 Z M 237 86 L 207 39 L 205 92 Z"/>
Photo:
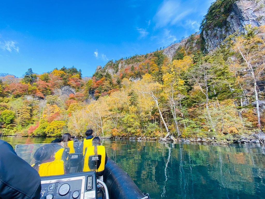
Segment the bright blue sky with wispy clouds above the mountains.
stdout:
<path fill-rule="evenodd" d="M 96 66 L 168 46 L 198 31 L 213 0 L 2 1 L 0 73 L 21 77 Z"/>

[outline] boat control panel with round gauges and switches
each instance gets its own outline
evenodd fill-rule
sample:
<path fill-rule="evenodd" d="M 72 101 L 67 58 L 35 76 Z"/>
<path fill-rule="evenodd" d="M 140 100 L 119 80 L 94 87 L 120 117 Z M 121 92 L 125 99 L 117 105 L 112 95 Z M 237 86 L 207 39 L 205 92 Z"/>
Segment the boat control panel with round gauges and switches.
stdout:
<path fill-rule="evenodd" d="M 81 172 L 41 177 L 41 199 L 96 199 L 96 173 Z"/>

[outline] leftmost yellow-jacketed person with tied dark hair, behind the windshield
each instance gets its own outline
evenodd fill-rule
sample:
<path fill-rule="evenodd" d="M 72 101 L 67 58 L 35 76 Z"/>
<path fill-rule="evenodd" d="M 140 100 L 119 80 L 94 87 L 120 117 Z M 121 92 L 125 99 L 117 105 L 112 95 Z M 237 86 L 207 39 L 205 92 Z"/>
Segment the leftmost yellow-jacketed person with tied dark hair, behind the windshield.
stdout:
<path fill-rule="evenodd" d="M 64 174 L 64 161 L 55 158 L 55 147 L 46 144 L 34 153 L 35 164 L 32 167 L 40 176 L 54 176 Z"/>

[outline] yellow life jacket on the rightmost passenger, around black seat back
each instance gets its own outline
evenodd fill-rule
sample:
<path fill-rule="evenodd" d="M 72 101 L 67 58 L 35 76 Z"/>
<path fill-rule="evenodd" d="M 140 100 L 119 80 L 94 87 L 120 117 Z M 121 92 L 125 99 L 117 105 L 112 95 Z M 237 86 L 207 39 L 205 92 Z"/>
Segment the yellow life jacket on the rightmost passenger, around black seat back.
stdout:
<path fill-rule="evenodd" d="M 105 168 L 105 147 L 104 146 L 96 146 L 98 147 L 98 154 L 94 153 L 95 146 L 87 147 L 85 160 L 84 160 L 84 168 L 83 171 L 104 171 Z M 95 164 L 97 160 L 97 165 Z"/>

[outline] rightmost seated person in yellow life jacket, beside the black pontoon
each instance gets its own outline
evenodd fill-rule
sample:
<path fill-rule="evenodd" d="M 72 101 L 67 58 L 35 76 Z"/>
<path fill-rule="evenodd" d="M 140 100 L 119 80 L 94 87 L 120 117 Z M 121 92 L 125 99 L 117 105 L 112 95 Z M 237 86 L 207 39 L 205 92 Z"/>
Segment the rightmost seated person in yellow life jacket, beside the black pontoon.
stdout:
<path fill-rule="evenodd" d="M 100 138 L 99 137 L 94 137 L 92 141 L 92 146 L 87 147 L 86 154 L 85 154 L 85 160 L 84 160 L 84 167 L 83 171 L 91 171 L 93 170 L 91 163 L 92 156 L 98 156 L 98 161 L 96 164 L 96 171 L 98 174 L 98 179 L 103 181 L 103 173 L 105 170 L 105 165 L 107 164 L 108 161 L 108 156 L 105 150 L 104 146 L 101 146 L 100 144 Z M 91 167 L 90 167 L 91 166 Z"/>

